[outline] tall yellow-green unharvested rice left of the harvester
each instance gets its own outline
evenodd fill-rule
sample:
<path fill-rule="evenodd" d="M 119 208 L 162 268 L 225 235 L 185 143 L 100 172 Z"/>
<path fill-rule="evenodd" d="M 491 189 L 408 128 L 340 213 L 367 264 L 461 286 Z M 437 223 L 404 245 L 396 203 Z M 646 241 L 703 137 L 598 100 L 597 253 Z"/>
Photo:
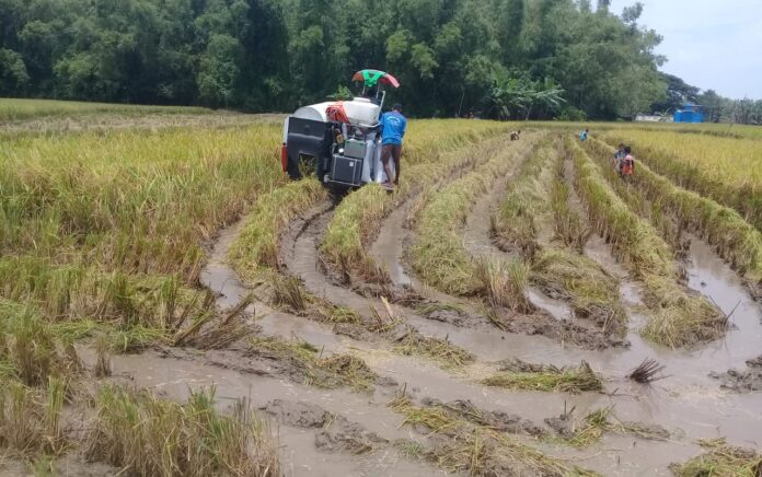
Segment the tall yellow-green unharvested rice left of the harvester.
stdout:
<path fill-rule="evenodd" d="M 0 298 L 95 321 L 123 348 L 189 344 L 215 317 L 196 290 L 204 245 L 285 183 L 278 140 L 257 125 L 4 141 Z"/>

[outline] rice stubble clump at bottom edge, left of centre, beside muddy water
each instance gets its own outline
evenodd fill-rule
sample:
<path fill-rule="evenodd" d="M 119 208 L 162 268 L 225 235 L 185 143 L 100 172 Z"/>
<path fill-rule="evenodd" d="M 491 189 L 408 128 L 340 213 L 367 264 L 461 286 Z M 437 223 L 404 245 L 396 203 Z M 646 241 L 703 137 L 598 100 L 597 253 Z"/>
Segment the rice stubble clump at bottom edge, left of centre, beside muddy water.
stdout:
<path fill-rule="evenodd" d="M 86 456 L 136 476 L 280 476 L 266 421 L 239 402 L 232 416 L 215 409 L 215 388 L 186 404 L 105 386 Z"/>

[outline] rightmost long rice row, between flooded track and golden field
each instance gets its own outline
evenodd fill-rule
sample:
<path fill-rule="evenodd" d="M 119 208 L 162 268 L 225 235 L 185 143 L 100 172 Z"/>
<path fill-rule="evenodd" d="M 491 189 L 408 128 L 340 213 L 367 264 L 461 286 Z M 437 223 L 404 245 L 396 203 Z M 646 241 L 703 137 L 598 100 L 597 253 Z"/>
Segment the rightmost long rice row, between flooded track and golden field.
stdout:
<path fill-rule="evenodd" d="M 599 159 L 610 155 L 608 144 L 591 140 L 589 149 Z M 667 177 L 638 163 L 634 184 L 653 202 L 663 206 L 678 222 L 714 245 L 720 257 L 741 272 L 757 296 L 762 296 L 762 233 L 736 210 L 674 185 Z"/>

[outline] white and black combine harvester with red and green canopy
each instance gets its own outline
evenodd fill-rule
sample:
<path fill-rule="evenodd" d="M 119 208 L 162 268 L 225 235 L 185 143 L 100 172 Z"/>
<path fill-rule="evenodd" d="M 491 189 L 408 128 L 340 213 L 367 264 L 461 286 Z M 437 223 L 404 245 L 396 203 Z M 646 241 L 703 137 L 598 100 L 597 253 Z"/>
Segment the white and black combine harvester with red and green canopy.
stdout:
<path fill-rule="evenodd" d="M 292 179 L 308 168 L 334 193 L 386 182 L 379 119 L 384 88 L 400 88 L 400 82 L 377 70 L 358 71 L 351 80 L 362 84 L 360 96 L 300 107 L 286 118 L 280 161 Z"/>

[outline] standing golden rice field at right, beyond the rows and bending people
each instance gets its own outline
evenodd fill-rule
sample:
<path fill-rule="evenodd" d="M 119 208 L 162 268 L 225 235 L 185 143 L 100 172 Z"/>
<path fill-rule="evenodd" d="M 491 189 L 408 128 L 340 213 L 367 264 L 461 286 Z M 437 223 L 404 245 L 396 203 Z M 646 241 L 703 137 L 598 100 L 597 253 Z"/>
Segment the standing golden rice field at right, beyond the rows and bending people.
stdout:
<path fill-rule="evenodd" d="M 635 144 L 640 162 L 655 172 L 736 209 L 762 231 L 762 155 L 758 140 L 634 129 L 612 131 L 604 138 L 609 143 L 626 138 Z"/>

